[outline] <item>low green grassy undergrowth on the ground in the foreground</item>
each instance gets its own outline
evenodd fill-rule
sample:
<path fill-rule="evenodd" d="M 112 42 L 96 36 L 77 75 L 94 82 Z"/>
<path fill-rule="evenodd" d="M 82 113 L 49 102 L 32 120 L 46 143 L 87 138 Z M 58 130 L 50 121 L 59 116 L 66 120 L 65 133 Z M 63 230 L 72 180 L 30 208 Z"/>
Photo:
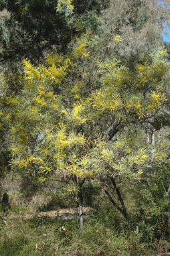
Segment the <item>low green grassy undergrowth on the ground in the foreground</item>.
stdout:
<path fill-rule="evenodd" d="M 36 220 L 37 223 L 37 220 Z M 12 225 L 12 222 L 11 222 Z M 7 224 L 1 232 L 2 255 L 154 255 L 154 250 L 140 243 L 133 232 L 118 233 L 92 219 L 79 229 L 75 222 L 43 220 L 39 225 L 29 222 Z M 64 226 L 64 227 L 63 227 Z M 15 250 L 15 251 L 14 251 Z"/>

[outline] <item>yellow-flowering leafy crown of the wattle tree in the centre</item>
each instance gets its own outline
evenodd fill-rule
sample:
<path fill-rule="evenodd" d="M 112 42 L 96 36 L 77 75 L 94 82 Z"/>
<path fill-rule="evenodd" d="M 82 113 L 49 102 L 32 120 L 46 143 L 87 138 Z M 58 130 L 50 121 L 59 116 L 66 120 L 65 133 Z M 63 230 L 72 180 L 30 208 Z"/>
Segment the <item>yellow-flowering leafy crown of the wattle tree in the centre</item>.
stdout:
<path fill-rule="evenodd" d="M 70 54 L 52 53 L 39 66 L 23 60 L 20 94 L 5 93 L 1 100 L 13 170 L 41 186 L 56 175 L 75 196 L 84 180 L 106 191 L 110 178 L 121 178 L 121 186 L 140 180 L 149 166 L 169 163 L 169 144 L 160 133 L 150 143 L 167 103 L 166 50 L 160 48 L 131 70 L 116 57 L 93 55 L 90 35 L 74 40 Z M 91 76 L 86 64 L 98 76 Z M 5 83 L 3 90 L 8 91 Z M 124 208 L 120 193 L 118 201 L 116 208 Z"/>

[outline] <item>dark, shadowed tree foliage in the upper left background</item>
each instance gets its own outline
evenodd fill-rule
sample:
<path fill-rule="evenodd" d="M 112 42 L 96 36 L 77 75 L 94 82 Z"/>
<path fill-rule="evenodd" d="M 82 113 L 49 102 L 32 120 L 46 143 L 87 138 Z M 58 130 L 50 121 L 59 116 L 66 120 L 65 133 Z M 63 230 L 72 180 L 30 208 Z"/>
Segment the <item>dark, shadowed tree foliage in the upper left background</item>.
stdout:
<path fill-rule="evenodd" d="M 66 52 L 85 21 L 96 29 L 109 1 L 1 1 L 1 62 L 38 60 L 47 51 Z M 82 25 L 81 25 L 81 24 Z M 82 31 L 85 31 L 84 25 Z M 81 31 L 81 33 L 82 33 Z"/>

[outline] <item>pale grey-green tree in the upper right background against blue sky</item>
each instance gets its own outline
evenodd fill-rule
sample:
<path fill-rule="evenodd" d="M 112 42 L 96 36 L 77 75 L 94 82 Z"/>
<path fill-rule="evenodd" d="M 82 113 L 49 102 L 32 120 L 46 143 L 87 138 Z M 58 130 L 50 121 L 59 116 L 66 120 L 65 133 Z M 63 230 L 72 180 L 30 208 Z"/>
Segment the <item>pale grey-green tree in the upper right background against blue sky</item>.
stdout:
<path fill-rule="evenodd" d="M 163 46 L 163 27 L 169 25 L 170 1 L 115 0 L 104 11 L 105 54 L 118 54 L 133 68 L 139 57 Z M 117 35 L 113 38 L 114 35 Z M 112 40 L 120 44 L 112 44 Z"/>

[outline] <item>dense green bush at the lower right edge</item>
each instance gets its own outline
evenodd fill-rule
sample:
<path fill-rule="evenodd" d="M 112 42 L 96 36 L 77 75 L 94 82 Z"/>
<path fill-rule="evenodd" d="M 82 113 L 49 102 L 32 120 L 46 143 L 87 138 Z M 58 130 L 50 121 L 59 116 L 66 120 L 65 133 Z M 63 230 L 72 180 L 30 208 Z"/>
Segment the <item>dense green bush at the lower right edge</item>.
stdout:
<path fill-rule="evenodd" d="M 146 241 L 169 237 L 169 175 L 169 166 L 155 167 L 137 184 L 139 229 Z"/>

